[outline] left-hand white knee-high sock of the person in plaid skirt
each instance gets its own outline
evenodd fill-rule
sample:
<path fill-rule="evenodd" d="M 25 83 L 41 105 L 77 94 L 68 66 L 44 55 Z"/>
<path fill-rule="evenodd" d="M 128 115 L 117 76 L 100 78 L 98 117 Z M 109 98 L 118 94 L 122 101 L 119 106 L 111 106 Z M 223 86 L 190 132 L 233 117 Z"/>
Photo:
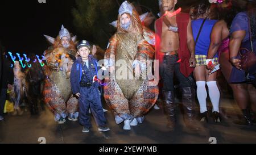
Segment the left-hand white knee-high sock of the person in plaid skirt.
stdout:
<path fill-rule="evenodd" d="M 196 89 L 196 94 L 197 94 L 197 99 L 199 101 L 200 104 L 200 112 L 204 113 L 205 111 L 207 111 L 207 90 L 205 88 L 205 81 L 197 81 L 196 85 L 197 85 L 197 89 Z"/>

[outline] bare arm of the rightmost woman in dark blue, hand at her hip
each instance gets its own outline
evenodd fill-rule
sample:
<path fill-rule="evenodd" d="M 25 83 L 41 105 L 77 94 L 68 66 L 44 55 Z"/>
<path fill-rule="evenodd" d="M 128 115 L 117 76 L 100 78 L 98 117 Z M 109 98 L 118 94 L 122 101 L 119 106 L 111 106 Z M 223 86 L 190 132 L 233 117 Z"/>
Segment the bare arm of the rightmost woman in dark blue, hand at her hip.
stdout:
<path fill-rule="evenodd" d="M 236 66 L 236 68 L 238 69 L 241 69 L 241 65 L 240 65 L 241 61 L 237 58 L 237 55 L 245 35 L 246 35 L 245 30 L 235 31 L 232 33 L 231 39 L 229 42 L 230 62 L 232 62 L 232 64 Z"/>

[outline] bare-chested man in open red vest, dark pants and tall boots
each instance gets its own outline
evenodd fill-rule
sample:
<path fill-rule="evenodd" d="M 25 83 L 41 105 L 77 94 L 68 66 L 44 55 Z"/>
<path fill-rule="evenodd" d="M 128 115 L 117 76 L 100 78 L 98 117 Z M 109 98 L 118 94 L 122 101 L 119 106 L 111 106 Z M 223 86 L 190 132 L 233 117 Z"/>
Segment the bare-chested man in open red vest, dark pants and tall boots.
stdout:
<path fill-rule="evenodd" d="M 192 72 L 196 66 L 195 41 L 193 40 L 189 14 L 173 14 L 177 0 L 159 0 L 162 15 L 155 22 L 156 55 L 159 60 L 160 76 L 163 79 L 165 111 L 168 115 L 167 127 L 175 128 L 174 73 L 179 79 L 182 102 L 187 114 L 186 126 L 192 131 L 200 128 L 193 122 L 195 89 L 192 87 Z"/>

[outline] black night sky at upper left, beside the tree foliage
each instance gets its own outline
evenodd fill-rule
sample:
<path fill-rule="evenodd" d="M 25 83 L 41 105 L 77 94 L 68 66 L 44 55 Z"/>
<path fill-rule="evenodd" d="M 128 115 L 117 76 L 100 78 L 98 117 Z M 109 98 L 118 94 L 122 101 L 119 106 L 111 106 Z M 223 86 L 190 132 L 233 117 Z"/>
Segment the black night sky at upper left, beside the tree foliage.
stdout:
<path fill-rule="evenodd" d="M 0 40 L 7 52 L 42 54 L 49 43 L 43 34 L 56 37 L 61 24 L 72 33 L 71 10 L 75 0 L 0 2 Z"/>

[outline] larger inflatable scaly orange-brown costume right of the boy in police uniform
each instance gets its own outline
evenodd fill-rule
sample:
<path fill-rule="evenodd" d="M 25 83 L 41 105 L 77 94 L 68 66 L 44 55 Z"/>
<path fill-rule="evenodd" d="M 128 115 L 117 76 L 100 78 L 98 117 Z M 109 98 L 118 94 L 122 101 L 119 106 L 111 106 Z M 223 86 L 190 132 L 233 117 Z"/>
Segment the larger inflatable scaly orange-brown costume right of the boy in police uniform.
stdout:
<path fill-rule="evenodd" d="M 120 16 L 127 13 L 131 16 L 131 23 L 126 30 L 122 28 Z M 154 106 L 158 98 L 158 86 L 149 85 L 148 79 L 130 79 L 133 74 L 133 66 L 138 63 L 142 73 L 147 72 L 143 60 L 152 60 L 154 49 L 143 37 L 143 27 L 137 12 L 126 1 L 119 9 L 117 32 L 109 41 L 109 47 L 105 53 L 107 66 L 114 67 L 115 62 L 122 60 L 126 62 L 126 79 L 119 79 L 117 72 L 120 69 L 115 66 L 115 73 L 110 73 L 109 79 L 105 79 L 104 97 L 106 103 L 114 110 L 119 120 L 133 120 L 137 118 L 142 123 L 143 115 Z M 132 60 L 132 61 L 129 61 Z M 133 76 L 134 77 L 134 76 Z M 116 119 L 116 123 L 119 124 Z"/>

